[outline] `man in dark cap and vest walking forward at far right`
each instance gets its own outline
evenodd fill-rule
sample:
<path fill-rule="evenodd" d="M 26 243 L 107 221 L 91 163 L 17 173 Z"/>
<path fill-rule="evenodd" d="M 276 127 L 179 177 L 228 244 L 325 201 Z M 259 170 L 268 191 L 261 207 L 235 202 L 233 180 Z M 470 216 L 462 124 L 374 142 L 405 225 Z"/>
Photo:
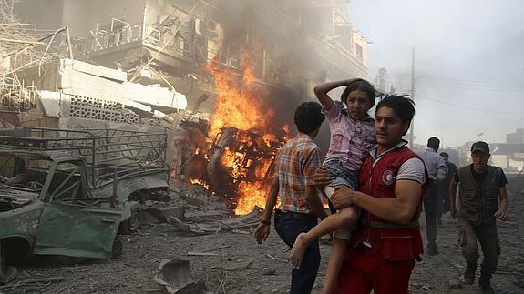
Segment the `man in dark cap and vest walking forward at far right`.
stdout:
<path fill-rule="evenodd" d="M 488 165 L 489 147 L 478 141 L 471 146 L 472 164 L 457 169 L 449 185 L 449 207 L 451 216 L 460 224 L 459 241 L 467 267 L 464 281 L 475 282 L 477 271 L 478 245 L 480 242 L 484 259 L 480 266 L 478 287 L 483 293 L 494 293 L 490 284 L 491 275 L 497 269 L 500 244 L 497 233 L 497 219 L 505 219 L 508 211 L 506 184 L 508 180 L 499 167 Z M 455 207 L 457 184 L 459 210 Z"/>

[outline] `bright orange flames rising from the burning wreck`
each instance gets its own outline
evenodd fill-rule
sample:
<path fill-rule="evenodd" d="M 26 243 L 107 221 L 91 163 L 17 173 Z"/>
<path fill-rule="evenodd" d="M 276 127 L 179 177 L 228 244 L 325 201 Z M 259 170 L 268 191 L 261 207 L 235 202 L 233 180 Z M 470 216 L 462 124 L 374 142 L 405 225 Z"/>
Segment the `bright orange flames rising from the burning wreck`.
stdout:
<path fill-rule="evenodd" d="M 239 75 L 222 66 L 220 58 L 211 60 L 206 69 L 213 75 L 217 92 L 211 126 L 208 137 L 215 138 L 222 127 L 235 127 L 241 131 L 257 130 L 267 132 L 275 115 L 271 107 L 264 106 L 263 97 L 256 88 L 254 67 L 247 52 L 241 55 L 242 72 Z M 289 128 L 289 127 L 288 127 Z M 270 133 L 262 135 L 263 141 L 269 147 L 276 136 Z M 263 143 L 262 143 L 263 144 Z M 245 160 L 242 154 L 225 148 L 221 164 L 231 169 L 231 177 L 237 185 L 235 198 L 237 215 L 247 214 L 254 206 L 263 208 L 269 183 L 263 181 L 266 171 L 271 166 L 272 158 L 257 158 Z M 246 167 L 255 165 L 255 181 L 243 172 Z"/>

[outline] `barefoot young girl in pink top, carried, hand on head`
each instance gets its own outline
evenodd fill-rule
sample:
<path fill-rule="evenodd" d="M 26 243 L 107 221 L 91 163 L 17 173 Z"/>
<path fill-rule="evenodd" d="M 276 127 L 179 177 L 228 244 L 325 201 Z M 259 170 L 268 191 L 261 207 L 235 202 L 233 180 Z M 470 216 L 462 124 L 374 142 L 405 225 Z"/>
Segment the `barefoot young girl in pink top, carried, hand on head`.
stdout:
<path fill-rule="evenodd" d="M 341 101 L 333 101 L 327 94 L 339 86 L 345 86 Z M 324 188 L 325 194 L 330 198 L 338 185 L 358 189 L 358 169 L 371 147 L 375 145 L 375 121 L 367 111 L 375 105 L 375 97 L 380 95 L 369 82 L 361 78 L 315 86 L 314 94 L 324 106 L 323 114 L 329 122 L 331 132 L 330 147 L 323 164 L 335 177 L 332 183 Z M 294 242 L 291 259 L 293 267 L 299 268 L 305 248 L 314 239 L 334 231 L 323 293 L 331 293 L 333 290 L 334 281 L 344 259 L 350 230 L 356 225 L 358 214 L 359 210 L 356 207 L 344 208 L 325 218 L 309 232 L 298 235 Z"/>

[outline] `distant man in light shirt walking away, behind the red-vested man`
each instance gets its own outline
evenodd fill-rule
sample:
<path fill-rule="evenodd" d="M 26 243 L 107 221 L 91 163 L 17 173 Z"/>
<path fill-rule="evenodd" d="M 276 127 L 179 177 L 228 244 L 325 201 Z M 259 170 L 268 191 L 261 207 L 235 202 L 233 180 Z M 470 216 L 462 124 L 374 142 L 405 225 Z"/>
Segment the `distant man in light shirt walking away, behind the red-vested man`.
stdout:
<path fill-rule="evenodd" d="M 427 140 L 427 148 L 418 152 L 418 155 L 424 160 L 429 180 L 427 181 L 427 190 L 424 195 L 424 214 L 426 215 L 426 238 L 427 238 L 427 255 L 437 255 L 437 209 L 440 204 L 437 180 L 443 180 L 446 177 L 446 164 L 444 159 L 437 154 L 440 147 L 440 140 L 437 137 L 430 137 Z"/>

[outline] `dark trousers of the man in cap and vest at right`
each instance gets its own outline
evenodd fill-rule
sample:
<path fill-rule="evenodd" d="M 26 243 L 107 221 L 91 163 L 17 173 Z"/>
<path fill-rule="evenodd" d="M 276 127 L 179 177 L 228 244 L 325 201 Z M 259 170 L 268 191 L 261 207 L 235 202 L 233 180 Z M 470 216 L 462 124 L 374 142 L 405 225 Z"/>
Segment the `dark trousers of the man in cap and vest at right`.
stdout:
<path fill-rule="evenodd" d="M 498 256 L 500 255 L 497 223 L 493 221 L 489 224 L 473 226 L 466 219 L 459 219 L 458 222 L 460 224 L 460 247 L 462 248 L 462 255 L 466 259 L 467 267 L 477 269 L 478 240 L 484 255 L 480 274 L 488 278 L 491 277 L 497 269 Z"/>

